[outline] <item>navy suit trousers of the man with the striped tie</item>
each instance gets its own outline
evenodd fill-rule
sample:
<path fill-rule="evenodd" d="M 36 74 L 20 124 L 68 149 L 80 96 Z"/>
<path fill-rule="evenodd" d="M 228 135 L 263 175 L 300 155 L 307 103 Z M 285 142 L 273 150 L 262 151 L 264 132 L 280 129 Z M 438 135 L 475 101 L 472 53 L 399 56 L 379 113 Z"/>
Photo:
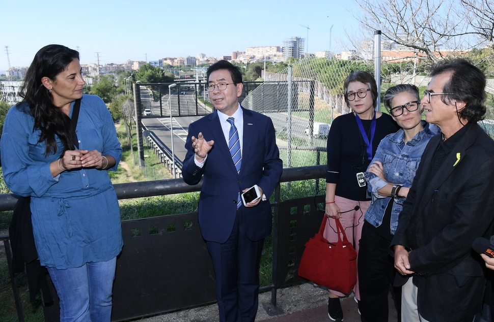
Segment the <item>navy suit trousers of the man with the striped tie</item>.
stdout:
<path fill-rule="evenodd" d="M 259 262 L 264 239 L 249 239 L 244 209 L 241 206 L 237 210 L 232 233 L 225 243 L 207 241 L 221 322 L 254 322 L 259 305 Z"/>

